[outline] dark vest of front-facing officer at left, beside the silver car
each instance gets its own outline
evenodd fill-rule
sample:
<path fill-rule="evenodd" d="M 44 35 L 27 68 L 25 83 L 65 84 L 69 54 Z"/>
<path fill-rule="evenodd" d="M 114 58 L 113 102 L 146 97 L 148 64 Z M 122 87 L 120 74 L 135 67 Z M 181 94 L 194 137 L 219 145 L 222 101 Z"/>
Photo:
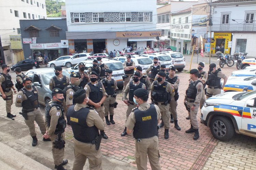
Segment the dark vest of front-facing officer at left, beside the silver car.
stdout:
<path fill-rule="evenodd" d="M 32 109 L 39 107 L 38 92 L 34 86 L 32 86 L 32 89 L 32 91 L 28 91 L 24 87 L 20 89 L 23 91 L 23 94 L 27 96 L 27 100 L 22 102 L 22 108 L 28 112 L 32 112 Z"/>

